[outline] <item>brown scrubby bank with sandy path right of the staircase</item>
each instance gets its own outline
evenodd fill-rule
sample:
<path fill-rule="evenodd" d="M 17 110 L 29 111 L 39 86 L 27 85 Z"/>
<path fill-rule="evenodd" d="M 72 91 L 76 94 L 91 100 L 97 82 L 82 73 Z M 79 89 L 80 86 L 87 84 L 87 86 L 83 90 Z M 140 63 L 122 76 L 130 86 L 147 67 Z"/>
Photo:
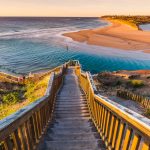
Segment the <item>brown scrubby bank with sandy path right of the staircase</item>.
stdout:
<path fill-rule="evenodd" d="M 150 118 L 150 108 L 144 107 L 142 104 L 145 99 L 150 99 L 149 75 L 150 71 L 101 72 L 94 77 L 94 81 L 101 95 L 109 97 L 129 109 L 138 107 L 137 113 L 140 110 L 142 115 Z M 118 97 L 118 91 L 130 93 L 130 96 Z"/>

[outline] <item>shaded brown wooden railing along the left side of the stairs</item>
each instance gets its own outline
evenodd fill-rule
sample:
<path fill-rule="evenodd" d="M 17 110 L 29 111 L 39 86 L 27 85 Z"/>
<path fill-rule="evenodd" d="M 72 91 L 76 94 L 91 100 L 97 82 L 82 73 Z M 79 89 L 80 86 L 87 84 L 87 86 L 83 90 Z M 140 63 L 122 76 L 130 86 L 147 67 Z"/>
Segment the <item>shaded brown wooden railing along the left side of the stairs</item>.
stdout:
<path fill-rule="evenodd" d="M 55 96 L 63 81 L 66 65 L 51 74 L 45 96 L 0 121 L 0 149 L 36 149 L 52 119 Z"/>

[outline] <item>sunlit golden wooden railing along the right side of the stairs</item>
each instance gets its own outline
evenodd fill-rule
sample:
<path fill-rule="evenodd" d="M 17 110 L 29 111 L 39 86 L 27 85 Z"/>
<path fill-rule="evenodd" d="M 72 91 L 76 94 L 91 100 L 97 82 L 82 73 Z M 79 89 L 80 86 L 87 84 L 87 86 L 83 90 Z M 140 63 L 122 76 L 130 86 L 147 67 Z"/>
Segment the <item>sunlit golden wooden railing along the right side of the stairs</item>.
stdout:
<path fill-rule="evenodd" d="M 88 73 L 76 67 L 91 118 L 109 150 L 149 150 L 150 120 L 95 93 Z"/>

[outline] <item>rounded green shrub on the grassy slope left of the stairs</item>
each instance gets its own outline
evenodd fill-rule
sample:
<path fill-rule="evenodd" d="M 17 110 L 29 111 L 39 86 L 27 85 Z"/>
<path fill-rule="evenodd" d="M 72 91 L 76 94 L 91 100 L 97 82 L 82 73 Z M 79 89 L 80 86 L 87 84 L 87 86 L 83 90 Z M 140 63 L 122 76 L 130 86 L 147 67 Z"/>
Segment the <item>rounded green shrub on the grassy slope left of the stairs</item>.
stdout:
<path fill-rule="evenodd" d="M 15 103 L 19 102 L 19 100 L 20 100 L 19 93 L 17 93 L 17 92 L 13 92 L 13 93 L 4 95 L 2 98 L 2 101 L 5 104 L 15 104 Z"/>

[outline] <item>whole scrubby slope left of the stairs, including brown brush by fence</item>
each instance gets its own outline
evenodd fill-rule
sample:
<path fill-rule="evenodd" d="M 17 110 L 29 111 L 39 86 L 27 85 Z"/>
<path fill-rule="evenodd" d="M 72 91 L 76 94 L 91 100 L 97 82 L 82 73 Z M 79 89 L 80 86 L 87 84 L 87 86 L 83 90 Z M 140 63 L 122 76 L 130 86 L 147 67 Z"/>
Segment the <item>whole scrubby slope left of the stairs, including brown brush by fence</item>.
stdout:
<path fill-rule="evenodd" d="M 27 78 L 24 83 L 0 76 L 0 119 L 36 101 L 45 94 L 50 74 Z"/>

